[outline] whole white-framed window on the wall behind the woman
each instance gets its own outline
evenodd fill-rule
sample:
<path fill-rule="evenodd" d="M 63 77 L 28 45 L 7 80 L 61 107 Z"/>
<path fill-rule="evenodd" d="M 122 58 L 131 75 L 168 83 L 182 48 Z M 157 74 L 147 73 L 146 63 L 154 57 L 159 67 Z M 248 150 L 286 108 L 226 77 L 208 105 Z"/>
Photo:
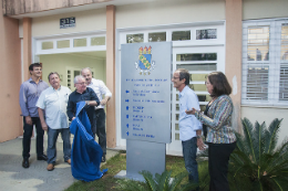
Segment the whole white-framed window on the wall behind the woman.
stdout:
<path fill-rule="evenodd" d="M 243 104 L 288 105 L 288 20 L 244 21 Z"/>

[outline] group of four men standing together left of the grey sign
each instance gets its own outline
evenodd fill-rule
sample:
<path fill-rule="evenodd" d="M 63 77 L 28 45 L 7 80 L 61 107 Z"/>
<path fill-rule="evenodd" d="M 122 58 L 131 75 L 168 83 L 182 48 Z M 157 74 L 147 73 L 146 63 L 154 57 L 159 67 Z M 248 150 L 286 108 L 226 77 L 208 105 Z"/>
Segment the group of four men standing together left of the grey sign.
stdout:
<path fill-rule="evenodd" d="M 63 140 L 64 161 L 71 165 L 71 142 L 69 120 L 76 114 L 76 103 L 86 103 L 86 114 L 91 124 L 93 137 L 99 137 L 103 150 L 102 162 L 106 155 L 106 131 L 104 106 L 112 94 L 105 84 L 92 78 L 89 67 L 81 71 L 82 75 L 74 78 L 75 91 L 61 85 L 60 75 L 51 72 L 48 76 L 49 86 L 41 79 L 42 66 L 33 63 L 29 66 L 31 77 L 20 87 L 19 102 L 23 116 L 23 151 L 22 167 L 29 168 L 30 145 L 33 126 L 37 129 L 37 159 L 48 162 L 47 170 L 54 169 L 56 160 L 56 139 L 61 132 Z M 104 96 L 104 98 L 103 98 Z M 48 134 L 47 155 L 43 152 L 43 135 Z"/>

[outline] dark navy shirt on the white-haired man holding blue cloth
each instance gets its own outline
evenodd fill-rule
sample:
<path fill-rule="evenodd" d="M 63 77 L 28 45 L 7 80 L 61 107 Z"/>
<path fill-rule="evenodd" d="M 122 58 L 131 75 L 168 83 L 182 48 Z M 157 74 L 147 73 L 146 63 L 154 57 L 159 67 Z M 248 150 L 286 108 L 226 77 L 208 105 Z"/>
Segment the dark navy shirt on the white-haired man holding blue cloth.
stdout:
<path fill-rule="evenodd" d="M 95 100 L 97 103 L 97 105 L 100 104 L 97 95 L 90 87 L 86 87 L 86 89 L 82 94 L 78 93 L 76 91 L 72 92 L 69 96 L 68 107 L 66 107 L 66 114 L 68 114 L 69 120 L 72 120 L 72 118 L 75 117 L 76 103 L 79 103 L 81 100 Z M 92 124 L 94 115 L 95 115 L 95 109 L 92 106 L 88 106 L 88 107 L 85 107 L 85 110 L 88 113 L 90 123 Z"/>

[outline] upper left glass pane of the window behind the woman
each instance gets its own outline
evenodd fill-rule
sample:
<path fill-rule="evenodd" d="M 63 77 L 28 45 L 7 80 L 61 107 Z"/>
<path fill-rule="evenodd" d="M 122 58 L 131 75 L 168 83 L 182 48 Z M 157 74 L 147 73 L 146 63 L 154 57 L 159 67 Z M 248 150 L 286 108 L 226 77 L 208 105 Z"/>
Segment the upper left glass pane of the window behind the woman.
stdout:
<path fill-rule="evenodd" d="M 269 61 L 269 26 L 248 29 L 248 61 Z"/>

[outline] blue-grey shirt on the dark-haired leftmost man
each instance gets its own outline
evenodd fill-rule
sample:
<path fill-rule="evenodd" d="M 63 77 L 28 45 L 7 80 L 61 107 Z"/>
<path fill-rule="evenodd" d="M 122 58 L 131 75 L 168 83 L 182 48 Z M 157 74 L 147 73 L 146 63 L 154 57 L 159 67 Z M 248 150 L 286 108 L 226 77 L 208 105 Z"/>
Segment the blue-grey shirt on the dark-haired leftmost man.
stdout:
<path fill-rule="evenodd" d="M 22 116 L 39 117 L 38 107 L 35 106 L 40 94 L 47 89 L 49 85 L 40 79 L 37 84 L 32 77 L 25 81 L 19 93 L 19 103 Z"/>

